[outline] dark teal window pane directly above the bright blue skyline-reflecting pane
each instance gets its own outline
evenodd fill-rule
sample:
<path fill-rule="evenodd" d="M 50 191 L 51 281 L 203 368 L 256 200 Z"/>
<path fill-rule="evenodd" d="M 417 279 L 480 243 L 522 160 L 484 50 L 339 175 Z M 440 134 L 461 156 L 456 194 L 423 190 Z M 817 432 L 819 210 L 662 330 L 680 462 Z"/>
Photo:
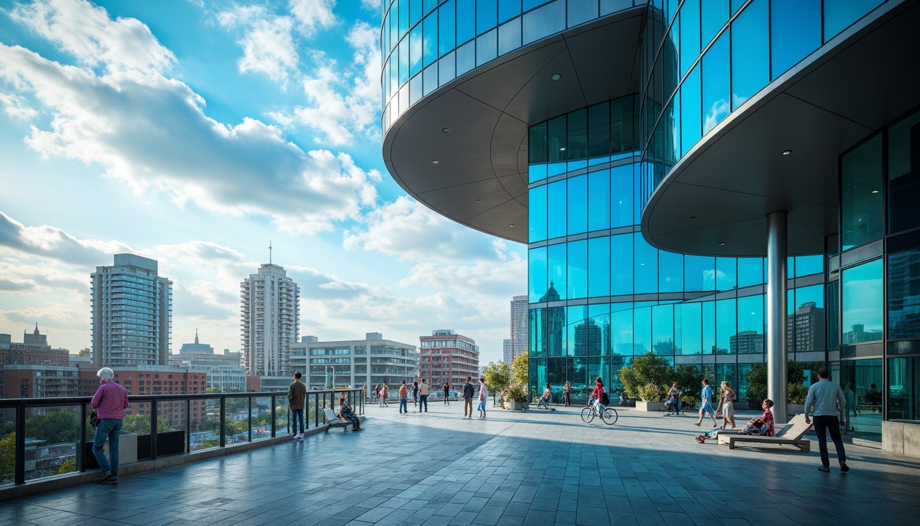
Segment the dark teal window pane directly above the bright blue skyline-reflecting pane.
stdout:
<path fill-rule="evenodd" d="M 877 134 L 841 159 L 844 250 L 881 237 L 881 157 L 881 134 Z"/>

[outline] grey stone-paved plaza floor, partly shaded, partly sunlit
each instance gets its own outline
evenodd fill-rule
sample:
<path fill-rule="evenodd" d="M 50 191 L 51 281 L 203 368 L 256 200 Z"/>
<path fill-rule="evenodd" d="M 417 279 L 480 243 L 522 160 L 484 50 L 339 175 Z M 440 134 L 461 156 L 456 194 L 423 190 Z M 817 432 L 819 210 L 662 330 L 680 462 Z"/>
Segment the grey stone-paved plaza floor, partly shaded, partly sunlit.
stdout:
<path fill-rule="evenodd" d="M 363 433 L 2 502 L 0 524 L 839 526 L 920 515 L 917 459 L 847 444 L 850 473 L 833 458 L 820 473 L 814 443 L 729 450 L 697 444 L 695 416 L 625 408 L 608 427 L 582 423 L 580 409 L 465 420 L 462 403 L 408 416 L 372 406 Z"/>

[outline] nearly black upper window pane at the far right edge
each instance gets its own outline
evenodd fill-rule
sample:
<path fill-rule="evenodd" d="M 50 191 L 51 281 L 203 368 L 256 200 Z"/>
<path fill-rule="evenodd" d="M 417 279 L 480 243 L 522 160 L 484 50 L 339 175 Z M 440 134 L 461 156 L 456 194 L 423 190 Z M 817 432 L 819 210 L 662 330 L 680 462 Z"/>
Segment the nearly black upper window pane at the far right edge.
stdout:
<path fill-rule="evenodd" d="M 920 203 L 920 112 L 888 131 L 890 233 L 920 227 L 917 203 Z"/>

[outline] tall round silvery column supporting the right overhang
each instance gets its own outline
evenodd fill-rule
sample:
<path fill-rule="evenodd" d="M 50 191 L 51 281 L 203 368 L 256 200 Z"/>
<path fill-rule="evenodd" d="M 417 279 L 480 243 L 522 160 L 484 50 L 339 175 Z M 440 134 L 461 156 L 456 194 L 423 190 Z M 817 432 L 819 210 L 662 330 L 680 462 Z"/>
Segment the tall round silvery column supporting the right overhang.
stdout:
<path fill-rule="evenodd" d="M 776 422 L 787 422 L 787 212 L 766 216 L 766 396 Z"/>

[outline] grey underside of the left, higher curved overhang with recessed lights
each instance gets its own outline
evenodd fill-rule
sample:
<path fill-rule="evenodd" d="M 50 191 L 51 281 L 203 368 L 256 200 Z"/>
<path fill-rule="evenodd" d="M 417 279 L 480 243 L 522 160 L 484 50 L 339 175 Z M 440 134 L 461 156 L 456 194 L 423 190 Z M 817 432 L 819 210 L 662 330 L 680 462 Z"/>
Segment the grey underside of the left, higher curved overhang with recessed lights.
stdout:
<path fill-rule="evenodd" d="M 644 13 L 569 29 L 432 92 L 386 131 L 386 168 L 439 214 L 526 243 L 528 127 L 637 93 Z"/>

